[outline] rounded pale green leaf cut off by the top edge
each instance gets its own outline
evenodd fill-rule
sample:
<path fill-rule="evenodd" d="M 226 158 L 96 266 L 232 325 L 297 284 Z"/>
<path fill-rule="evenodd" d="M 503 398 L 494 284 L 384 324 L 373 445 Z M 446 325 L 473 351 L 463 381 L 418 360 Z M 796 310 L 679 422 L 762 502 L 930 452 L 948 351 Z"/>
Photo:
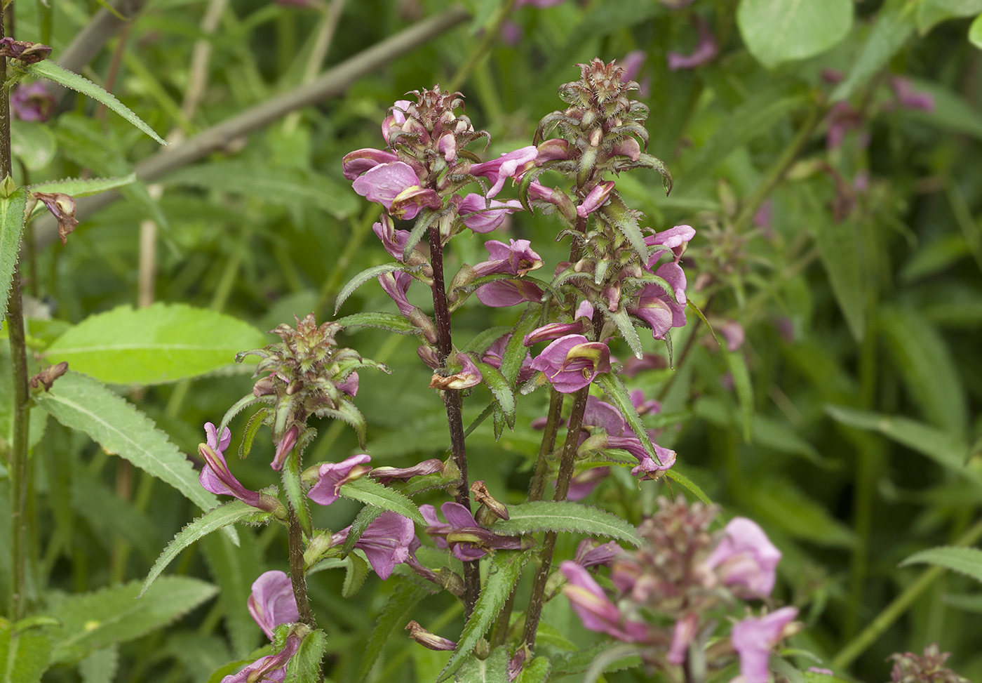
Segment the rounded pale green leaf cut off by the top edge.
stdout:
<path fill-rule="evenodd" d="M 773 69 L 821 54 L 852 28 L 851 0 L 740 0 L 736 25 L 746 48 Z"/>

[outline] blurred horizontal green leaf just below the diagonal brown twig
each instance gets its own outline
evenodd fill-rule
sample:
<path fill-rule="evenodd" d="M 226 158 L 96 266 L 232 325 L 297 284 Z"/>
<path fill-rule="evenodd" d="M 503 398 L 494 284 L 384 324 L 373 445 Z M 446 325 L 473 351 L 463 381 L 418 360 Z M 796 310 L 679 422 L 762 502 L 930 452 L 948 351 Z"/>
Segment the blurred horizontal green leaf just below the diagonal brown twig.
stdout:
<path fill-rule="evenodd" d="M 190 185 L 278 205 L 316 206 L 338 218 L 357 210 L 350 186 L 302 168 L 270 168 L 246 161 L 216 161 L 187 166 L 164 178 L 168 185 Z"/>

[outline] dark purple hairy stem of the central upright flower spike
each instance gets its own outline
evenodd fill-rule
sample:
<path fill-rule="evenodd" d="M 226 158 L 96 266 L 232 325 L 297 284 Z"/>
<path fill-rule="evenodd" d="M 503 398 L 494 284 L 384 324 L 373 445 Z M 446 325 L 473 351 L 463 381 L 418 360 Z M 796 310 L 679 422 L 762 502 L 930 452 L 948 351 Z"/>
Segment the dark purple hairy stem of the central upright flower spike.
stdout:
<path fill-rule="evenodd" d="M 447 288 L 444 285 L 443 243 L 440 237 L 440 221 L 433 221 L 429 230 L 430 265 L 433 266 L 433 318 L 436 322 L 436 348 L 440 365 L 447 365 L 447 357 L 454 349 L 450 327 L 450 310 L 447 307 Z M 464 445 L 464 401 L 457 389 L 440 391 L 447 410 L 450 428 L 450 452 L 454 464 L 461 471 L 460 483 L 454 492 L 454 500 L 470 510 L 470 482 L 467 479 L 467 451 Z M 469 618 L 481 590 L 481 573 L 477 560 L 464 562 L 464 612 Z"/>

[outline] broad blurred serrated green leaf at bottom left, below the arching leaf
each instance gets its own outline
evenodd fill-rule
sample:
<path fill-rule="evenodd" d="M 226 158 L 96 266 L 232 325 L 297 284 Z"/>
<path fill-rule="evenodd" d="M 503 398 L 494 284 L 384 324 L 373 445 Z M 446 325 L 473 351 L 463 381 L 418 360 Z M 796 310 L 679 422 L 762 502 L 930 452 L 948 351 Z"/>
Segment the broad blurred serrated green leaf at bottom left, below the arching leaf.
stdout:
<path fill-rule="evenodd" d="M 217 593 L 216 587 L 198 579 L 165 576 L 139 599 L 138 581 L 65 599 L 51 610 L 61 621 L 51 632 L 52 662 L 71 663 L 113 643 L 136 640 Z"/>

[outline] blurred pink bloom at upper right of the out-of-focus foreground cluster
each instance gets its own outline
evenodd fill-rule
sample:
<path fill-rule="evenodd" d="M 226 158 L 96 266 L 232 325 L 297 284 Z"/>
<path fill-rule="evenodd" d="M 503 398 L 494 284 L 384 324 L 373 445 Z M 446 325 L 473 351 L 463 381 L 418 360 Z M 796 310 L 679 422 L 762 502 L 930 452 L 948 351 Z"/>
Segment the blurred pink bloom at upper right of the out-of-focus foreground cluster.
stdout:
<path fill-rule="evenodd" d="M 716 570 L 727 586 L 746 589 L 748 597 L 771 595 L 781 550 L 756 522 L 745 517 L 732 519 L 725 534 L 706 558 L 705 567 Z"/>

